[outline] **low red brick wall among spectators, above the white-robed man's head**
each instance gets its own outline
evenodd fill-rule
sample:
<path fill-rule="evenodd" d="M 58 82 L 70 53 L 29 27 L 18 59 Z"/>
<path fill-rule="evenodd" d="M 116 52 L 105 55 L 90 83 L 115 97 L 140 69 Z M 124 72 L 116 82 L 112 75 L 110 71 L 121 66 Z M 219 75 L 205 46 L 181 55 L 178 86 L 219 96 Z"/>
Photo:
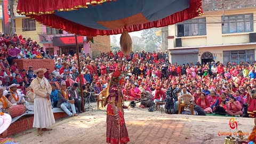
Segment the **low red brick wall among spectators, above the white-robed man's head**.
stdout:
<path fill-rule="evenodd" d="M 38 68 L 49 68 L 50 73 L 54 70 L 54 61 L 50 59 L 14 59 L 17 62 L 19 69 L 28 70 L 32 66 L 34 70 Z"/>

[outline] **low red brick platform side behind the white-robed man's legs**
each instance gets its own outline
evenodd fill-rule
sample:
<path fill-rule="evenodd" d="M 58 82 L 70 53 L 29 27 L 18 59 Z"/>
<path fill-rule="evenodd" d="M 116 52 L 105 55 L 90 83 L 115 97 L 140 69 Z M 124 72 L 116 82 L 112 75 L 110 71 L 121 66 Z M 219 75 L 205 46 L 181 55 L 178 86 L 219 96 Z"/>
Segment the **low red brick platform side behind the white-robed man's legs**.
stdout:
<path fill-rule="evenodd" d="M 67 117 L 66 113 L 53 113 L 55 119 Z M 33 128 L 34 116 L 25 116 L 12 123 L 7 129 L 7 136 L 17 134 Z"/>

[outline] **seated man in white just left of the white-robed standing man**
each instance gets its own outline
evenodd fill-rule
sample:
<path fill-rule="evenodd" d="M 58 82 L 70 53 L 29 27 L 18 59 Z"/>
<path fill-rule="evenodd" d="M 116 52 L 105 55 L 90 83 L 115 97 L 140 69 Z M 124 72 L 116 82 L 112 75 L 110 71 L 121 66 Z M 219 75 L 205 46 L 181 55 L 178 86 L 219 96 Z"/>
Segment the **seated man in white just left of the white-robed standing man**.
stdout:
<path fill-rule="evenodd" d="M 10 85 L 8 93 L 10 93 L 13 97 L 13 99 L 10 101 L 12 104 L 17 105 L 17 104 L 22 104 L 25 102 L 23 96 L 24 94 L 21 95 L 21 92 L 17 91 L 17 87 L 19 84 L 12 84 Z"/>

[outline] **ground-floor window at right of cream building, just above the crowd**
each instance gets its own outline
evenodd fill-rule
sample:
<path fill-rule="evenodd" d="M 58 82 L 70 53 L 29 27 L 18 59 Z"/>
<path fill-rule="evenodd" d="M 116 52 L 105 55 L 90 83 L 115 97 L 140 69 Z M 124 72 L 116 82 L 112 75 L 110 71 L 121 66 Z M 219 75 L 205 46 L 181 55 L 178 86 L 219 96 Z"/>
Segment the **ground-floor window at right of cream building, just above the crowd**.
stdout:
<path fill-rule="evenodd" d="M 250 63 L 254 61 L 254 50 L 223 51 L 223 63 L 245 61 Z"/>

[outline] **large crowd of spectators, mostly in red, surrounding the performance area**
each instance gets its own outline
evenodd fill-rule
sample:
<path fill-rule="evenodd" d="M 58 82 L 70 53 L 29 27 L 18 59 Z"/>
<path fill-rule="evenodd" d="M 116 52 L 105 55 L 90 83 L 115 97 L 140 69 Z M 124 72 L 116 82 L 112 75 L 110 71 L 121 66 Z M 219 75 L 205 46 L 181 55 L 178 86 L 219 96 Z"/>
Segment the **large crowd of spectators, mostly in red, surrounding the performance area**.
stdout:
<path fill-rule="evenodd" d="M 124 55 L 121 51 L 114 53 L 110 51 L 102 52 L 101 55 L 92 59 L 90 54 L 85 54 L 82 49 L 79 53 L 82 72 L 79 74 L 76 54 L 65 53 L 51 57 L 49 52 L 45 53 L 35 41 L 31 41 L 30 38 L 27 40 L 22 38 L 21 41 L 20 38 L 22 36 L 17 37 L 15 34 L 13 37 L 7 34 L 2 37 L 5 42 L 0 42 L 2 44 L 0 80 L 4 86 L 18 84 L 18 88 L 25 94 L 26 90 L 29 90 L 27 87 L 31 80 L 35 78 L 33 67 L 29 67 L 27 71 L 19 69 L 17 63 L 11 62 L 13 57 L 53 59 L 54 70 L 47 69 L 45 73 L 49 82 L 57 83 L 59 85 L 55 86 L 57 88 L 65 82 L 67 89 L 74 84 L 82 83 L 84 95 L 89 95 L 90 92 L 98 94 L 106 89 L 110 79 L 109 74 L 115 70 L 121 70 L 126 74 L 122 90 L 125 100 L 146 99 L 146 103 L 154 103 L 173 97 L 177 103 L 180 95 L 191 94 L 194 105 L 200 107 L 205 113 L 255 116 L 253 112 L 255 97 L 250 94 L 256 87 L 255 61 L 226 64 L 215 61 L 201 64 L 198 61 L 178 65 L 176 62 L 169 62 L 167 51 L 153 51 L 153 53 L 137 51 L 131 52 L 130 55 Z M 31 54 L 28 54 L 30 48 Z M 18 55 L 10 54 L 13 49 L 17 49 L 15 51 Z M 25 53 L 22 53 L 22 50 Z M 79 79 L 79 75 L 82 79 Z M 175 94 L 170 94 L 171 91 L 175 91 Z M 79 89 L 78 94 L 81 94 Z M 56 100 L 57 98 L 54 98 L 53 104 Z M 148 106 L 151 104 L 140 105 L 141 108 Z"/>

